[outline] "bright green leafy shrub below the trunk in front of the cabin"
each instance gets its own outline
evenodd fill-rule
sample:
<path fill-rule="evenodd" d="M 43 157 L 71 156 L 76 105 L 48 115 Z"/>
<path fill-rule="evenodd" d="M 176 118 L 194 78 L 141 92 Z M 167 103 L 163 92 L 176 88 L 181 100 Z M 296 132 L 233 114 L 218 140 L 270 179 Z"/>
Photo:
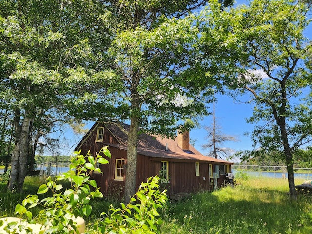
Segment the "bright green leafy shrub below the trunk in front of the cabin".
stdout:
<path fill-rule="evenodd" d="M 167 202 L 165 190 L 159 191 L 159 181 L 157 176 L 148 178 L 146 183 L 140 185 L 128 205 L 120 203 L 121 208 L 111 206 L 110 213 L 103 212 L 102 218 L 93 226 L 94 233 L 159 233 L 158 225 L 162 224 L 162 220 L 157 210 Z"/>

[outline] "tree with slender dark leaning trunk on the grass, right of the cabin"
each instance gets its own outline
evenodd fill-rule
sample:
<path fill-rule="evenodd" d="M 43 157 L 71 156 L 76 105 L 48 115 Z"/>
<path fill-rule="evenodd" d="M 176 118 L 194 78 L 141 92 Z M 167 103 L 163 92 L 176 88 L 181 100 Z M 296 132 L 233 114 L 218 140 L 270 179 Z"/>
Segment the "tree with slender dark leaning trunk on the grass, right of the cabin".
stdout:
<path fill-rule="evenodd" d="M 237 77 L 231 87 L 250 93 L 255 104 L 248 120 L 259 124 L 254 147 L 283 152 L 295 198 L 294 152 L 312 141 L 312 43 L 304 36 L 309 7 L 295 0 L 254 0 L 225 12 L 214 1 L 205 14 L 202 39 L 206 46 L 211 37 L 218 41 L 214 56 L 221 75 Z"/>

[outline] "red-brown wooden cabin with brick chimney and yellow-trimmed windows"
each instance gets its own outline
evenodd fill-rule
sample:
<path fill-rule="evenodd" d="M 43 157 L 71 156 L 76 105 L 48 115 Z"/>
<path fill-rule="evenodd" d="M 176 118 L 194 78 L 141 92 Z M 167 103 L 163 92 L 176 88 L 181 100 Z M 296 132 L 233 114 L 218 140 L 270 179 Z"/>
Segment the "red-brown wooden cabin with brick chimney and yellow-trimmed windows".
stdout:
<path fill-rule="evenodd" d="M 129 125 L 123 127 L 129 131 Z M 112 155 L 109 164 L 101 165 L 103 174 L 92 175 L 104 195 L 123 196 L 128 139 L 124 131 L 116 125 L 96 122 L 76 147 L 83 155 L 89 150 L 96 155 L 103 146 L 109 146 Z M 175 140 L 141 134 L 137 152 L 137 189 L 147 178 L 158 175 L 168 195 L 219 188 L 233 164 L 203 156 L 190 145 L 188 132 L 178 134 Z"/>

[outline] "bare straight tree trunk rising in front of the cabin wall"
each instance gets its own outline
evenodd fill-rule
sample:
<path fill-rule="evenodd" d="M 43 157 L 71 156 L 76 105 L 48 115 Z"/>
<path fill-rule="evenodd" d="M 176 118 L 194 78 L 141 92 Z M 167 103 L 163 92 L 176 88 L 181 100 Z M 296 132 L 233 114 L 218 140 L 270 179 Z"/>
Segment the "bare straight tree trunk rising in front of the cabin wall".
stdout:
<path fill-rule="evenodd" d="M 124 193 L 124 203 L 128 204 L 130 198 L 136 193 L 137 180 L 137 142 L 138 142 L 139 118 L 131 117 L 130 131 L 127 146 L 127 169 Z"/>

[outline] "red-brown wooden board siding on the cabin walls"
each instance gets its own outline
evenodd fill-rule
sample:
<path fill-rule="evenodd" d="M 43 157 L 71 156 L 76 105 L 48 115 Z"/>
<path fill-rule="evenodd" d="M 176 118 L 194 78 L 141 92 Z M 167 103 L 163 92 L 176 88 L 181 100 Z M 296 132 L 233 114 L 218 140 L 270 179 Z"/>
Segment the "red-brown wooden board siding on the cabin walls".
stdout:
<path fill-rule="evenodd" d="M 119 142 L 113 135 L 105 128 L 103 142 L 108 144 L 118 145 Z M 102 142 L 95 142 L 96 131 L 88 137 L 81 145 L 81 153 L 85 155 L 89 150 L 93 156 L 105 146 Z M 104 195 L 115 197 L 122 197 L 124 193 L 125 181 L 116 181 L 115 178 L 115 162 L 116 159 L 126 159 L 127 151 L 118 149 L 113 146 L 108 148 L 111 152 L 111 159 L 108 159 L 109 164 L 101 165 L 102 174 L 94 173 L 92 179 L 97 181 L 98 187 Z M 165 159 L 153 158 L 138 154 L 137 156 L 137 183 L 136 190 L 138 190 L 142 182 L 146 182 L 147 178 L 159 175 L 161 169 L 161 161 L 169 162 L 169 184 L 165 184 L 168 188 L 167 194 L 175 194 L 180 192 L 196 192 L 199 190 L 212 190 L 213 185 L 211 178 L 209 178 L 209 164 L 213 164 L 213 172 L 215 172 L 215 163 L 199 162 L 199 176 L 196 176 L 196 161 L 185 161 L 180 159 Z M 230 165 L 231 171 L 231 165 Z M 204 179 L 205 177 L 205 179 Z M 125 177 L 124 177 L 125 180 Z M 218 179 L 218 187 L 221 187 L 225 175 L 220 175 Z M 164 186 L 164 184 L 162 184 Z"/>

